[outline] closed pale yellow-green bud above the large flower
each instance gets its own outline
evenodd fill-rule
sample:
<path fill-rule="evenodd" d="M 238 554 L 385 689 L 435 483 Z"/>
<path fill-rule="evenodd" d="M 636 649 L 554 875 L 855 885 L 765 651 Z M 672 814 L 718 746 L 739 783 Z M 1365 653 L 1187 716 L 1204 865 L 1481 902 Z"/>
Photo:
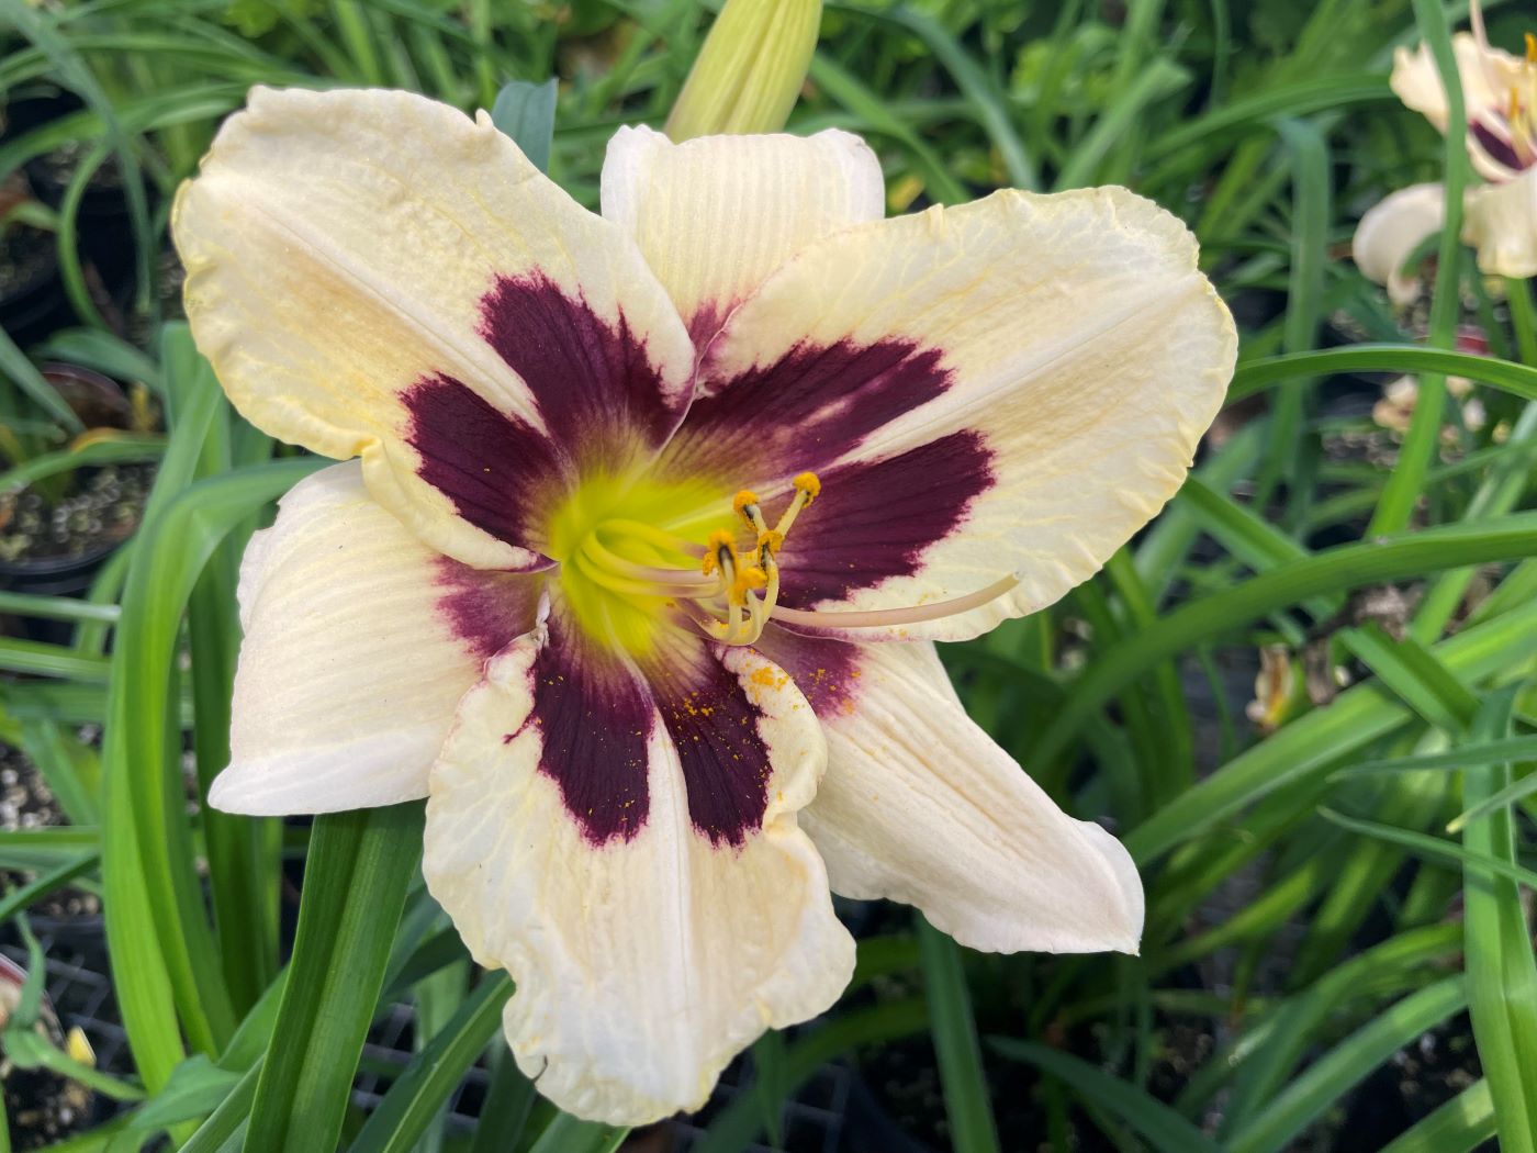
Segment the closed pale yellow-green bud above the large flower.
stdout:
<path fill-rule="evenodd" d="M 821 23 L 821 0 L 727 0 L 667 117 L 667 135 L 782 129 Z"/>

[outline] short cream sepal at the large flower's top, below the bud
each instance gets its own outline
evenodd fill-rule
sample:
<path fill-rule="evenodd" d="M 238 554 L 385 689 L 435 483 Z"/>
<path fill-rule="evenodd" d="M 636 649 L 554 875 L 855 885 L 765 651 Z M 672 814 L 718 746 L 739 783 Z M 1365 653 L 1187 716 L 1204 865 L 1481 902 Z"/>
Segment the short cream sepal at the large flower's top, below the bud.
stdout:
<path fill-rule="evenodd" d="M 603 215 L 639 244 L 701 347 L 798 251 L 884 214 L 881 163 L 836 129 L 675 145 L 621 128 L 603 164 Z"/>

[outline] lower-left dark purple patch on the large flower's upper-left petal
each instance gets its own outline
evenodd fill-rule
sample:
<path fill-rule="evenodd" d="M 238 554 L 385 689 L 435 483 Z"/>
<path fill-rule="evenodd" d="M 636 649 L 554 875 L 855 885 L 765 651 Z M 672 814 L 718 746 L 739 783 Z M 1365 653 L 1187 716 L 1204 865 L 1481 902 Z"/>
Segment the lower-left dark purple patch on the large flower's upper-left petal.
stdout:
<path fill-rule="evenodd" d="M 539 547 L 532 513 L 559 481 L 549 441 L 452 377 L 420 380 L 401 401 L 406 443 L 421 457 L 417 473 L 476 529 Z"/>

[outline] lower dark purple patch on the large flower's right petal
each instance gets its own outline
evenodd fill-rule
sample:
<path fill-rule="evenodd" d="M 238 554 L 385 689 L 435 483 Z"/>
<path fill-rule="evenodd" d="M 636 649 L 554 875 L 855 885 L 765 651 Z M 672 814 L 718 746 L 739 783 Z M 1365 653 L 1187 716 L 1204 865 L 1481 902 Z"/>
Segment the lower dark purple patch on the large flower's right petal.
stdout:
<path fill-rule="evenodd" d="M 841 464 L 821 480 L 821 497 L 779 553 L 779 603 L 792 609 L 911 576 L 996 478 L 987 441 L 964 429 L 896 457 Z"/>

